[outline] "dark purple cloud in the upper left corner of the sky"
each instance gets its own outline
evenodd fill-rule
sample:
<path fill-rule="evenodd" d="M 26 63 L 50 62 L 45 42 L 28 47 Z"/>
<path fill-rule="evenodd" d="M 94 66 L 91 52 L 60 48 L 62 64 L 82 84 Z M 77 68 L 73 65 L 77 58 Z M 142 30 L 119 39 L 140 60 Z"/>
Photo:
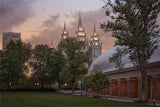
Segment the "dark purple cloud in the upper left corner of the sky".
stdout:
<path fill-rule="evenodd" d="M 33 2 L 34 0 L 0 0 L 0 38 L 2 32 L 11 31 L 33 16 Z"/>

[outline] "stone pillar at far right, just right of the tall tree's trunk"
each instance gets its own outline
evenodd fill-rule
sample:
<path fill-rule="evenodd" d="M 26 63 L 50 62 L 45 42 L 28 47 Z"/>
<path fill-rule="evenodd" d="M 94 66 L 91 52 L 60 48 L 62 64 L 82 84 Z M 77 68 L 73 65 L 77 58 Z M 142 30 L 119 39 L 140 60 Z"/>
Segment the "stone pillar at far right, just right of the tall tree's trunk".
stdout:
<path fill-rule="evenodd" d="M 156 93 L 157 93 L 156 85 L 157 85 L 157 76 L 154 75 L 152 76 L 152 96 L 151 96 L 152 99 L 156 99 Z"/>

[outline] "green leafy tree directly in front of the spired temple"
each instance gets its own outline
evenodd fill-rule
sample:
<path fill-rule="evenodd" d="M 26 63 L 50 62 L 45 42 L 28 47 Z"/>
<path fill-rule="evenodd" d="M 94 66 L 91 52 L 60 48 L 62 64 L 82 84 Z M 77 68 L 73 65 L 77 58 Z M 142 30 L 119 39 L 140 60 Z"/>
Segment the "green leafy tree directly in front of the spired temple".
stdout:
<path fill-rule="evenodd" d="M 68 84 L 70 84 L 73 94 L 81 75 L 87 73 L 85 64 L 89 61 L 89 54 L 88 52 L 84 53 L 81 51 L 83 46 L 84 42 L 77 41 L 75 38 L 67 38 L 59 44 L 59 49 L 64 52 L 67 59 L 65 69 L 63 69 L 63 72 L 60 74 L 60 78 L 64 83 L 68 82 Z M 64 71 L 66 69 L 67 71 Z M 66 74 L 66 72 L 70 77 L 67 80 L 61 77 Z"/>

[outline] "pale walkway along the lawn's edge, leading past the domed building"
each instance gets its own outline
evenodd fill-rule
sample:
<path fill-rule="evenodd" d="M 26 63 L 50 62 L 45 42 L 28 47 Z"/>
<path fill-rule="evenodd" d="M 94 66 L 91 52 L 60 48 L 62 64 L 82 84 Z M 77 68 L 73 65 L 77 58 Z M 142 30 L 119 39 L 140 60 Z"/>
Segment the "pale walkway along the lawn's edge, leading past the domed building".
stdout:
<path fill-rule="evenodd" d="M 57 92 L 65 93 L 65 94 L 72 94 L 71 90 L 58 90 Z M 81 95 L 81 91 L 75 90 L 74 91 L 74 95 Z M 93 97 L 93 96 L 95 96 L 93 94 L 86 94 L 85 91 L 82 91 L 82 95 L 86 96 L 86 97 Z M 136 100 L 138 100 L 138 99 L 135 99 L 135 98 L 120 98 L 120 97 L 104 96 L 104 95 L 103 96 L 100 95 L 100 98 L 106 99 L 106 100 L 112 100 L 112 101 L 122 101 L 122 102 L 135 102 Z M 153 105 L 153 102 L 150 101 L 147 104 L 148 105 Z M 160 106 L 160 101 L 156 102 L 156 106 Z"/>

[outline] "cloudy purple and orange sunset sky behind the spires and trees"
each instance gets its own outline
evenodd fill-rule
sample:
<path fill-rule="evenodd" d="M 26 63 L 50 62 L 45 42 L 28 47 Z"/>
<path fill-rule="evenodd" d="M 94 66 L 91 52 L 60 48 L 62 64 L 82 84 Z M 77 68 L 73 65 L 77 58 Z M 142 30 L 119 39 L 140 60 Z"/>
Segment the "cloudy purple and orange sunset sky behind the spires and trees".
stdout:
<path fill-rule="evenodd" d="M 78 14 L 90 38 L 93 24 L 102 41 L 102 51 L 114 45 L 110 33 L 100 29 L 100 23 L 107 22 L 103 0 L 0 0 L 0 49 L 2 32 L 20 32 L 24 42 L 32 45 L 50 45 L 53 40 L 56 47 L 61 39 L 63 24 L 66 22 L 69 36 L 73 36 Z"/>

